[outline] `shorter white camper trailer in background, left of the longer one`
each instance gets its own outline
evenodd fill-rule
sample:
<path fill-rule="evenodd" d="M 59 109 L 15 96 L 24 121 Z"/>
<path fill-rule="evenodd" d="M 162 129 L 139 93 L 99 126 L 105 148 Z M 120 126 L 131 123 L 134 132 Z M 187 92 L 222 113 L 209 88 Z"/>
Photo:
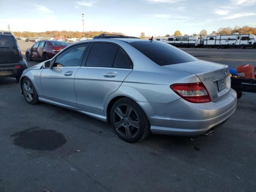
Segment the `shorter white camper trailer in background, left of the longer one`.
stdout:
<path fill-rule="evenodd" d="M 201 36 L 169 36 L 166 43 L 176 47 L 198 47 Z"/>

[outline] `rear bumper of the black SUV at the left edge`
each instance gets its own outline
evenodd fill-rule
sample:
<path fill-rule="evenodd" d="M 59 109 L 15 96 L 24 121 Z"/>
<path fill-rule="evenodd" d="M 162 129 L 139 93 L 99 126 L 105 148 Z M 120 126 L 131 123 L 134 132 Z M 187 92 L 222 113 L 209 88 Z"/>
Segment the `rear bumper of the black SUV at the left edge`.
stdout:
<path fill-rule="evenodd" d="M 17 69 L 15 66 L 20 68 Z M 26 68 L 28 67 L 24 59 L 18 63 L 0 64 L 0 78 L 20 76 Z"/>

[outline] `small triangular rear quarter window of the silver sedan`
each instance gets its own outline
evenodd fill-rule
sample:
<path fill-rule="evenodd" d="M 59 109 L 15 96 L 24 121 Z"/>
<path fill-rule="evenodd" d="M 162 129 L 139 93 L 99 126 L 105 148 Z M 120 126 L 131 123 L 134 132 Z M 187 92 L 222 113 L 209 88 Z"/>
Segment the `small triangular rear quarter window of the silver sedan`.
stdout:
<path fill-rule="evenodd" d="M 124 54 L 124 52 L 121 49 L 119 49 L 116 54 L 113 68 L 123 68 L 123 69 L 131 69 L 132 68 L 131 60 L 128 58 L 128 56 L 126 56 Z"/>

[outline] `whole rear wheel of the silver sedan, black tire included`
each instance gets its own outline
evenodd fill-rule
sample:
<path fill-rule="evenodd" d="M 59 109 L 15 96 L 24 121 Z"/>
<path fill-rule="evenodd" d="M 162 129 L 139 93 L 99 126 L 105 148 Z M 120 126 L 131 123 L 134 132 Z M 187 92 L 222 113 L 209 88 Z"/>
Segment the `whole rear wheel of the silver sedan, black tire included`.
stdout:
<path fill-rule="evenodd" d="M 127 108 L 125 110 L 126 106 Z M 132 108 L 132 110 L 130 110 L 129 115 L 126 116 L 128 107 Z M 124 119 L 122 119 L 118 114 L 119 110 L 121 110 L 120 114 L 122 114 L 122 117 Z M 130 120 L 132 116 L 135 117 L 136 124 L 138 124 L 139 128 L 130 125 L 134 121 Z M 126 122 L 125 117 L 126 119 L 128 119 L 128 122 Z M 120 137 L 122 140 L 125 140 L 126 142 L 138 142 L 140 140 L 143 140 L 150 134 L 150 124 L 146 114 L 144 113 L 142 108 L 130 98 L 121 98 L 120 100 L 114 103 L 110 111 L 110 122 L 118 137 Z M 116 128 L 116 125 L 118 124 L 122 125 Z M 129 134 L 127 134 L 126 129 L 129 130 Z"/>

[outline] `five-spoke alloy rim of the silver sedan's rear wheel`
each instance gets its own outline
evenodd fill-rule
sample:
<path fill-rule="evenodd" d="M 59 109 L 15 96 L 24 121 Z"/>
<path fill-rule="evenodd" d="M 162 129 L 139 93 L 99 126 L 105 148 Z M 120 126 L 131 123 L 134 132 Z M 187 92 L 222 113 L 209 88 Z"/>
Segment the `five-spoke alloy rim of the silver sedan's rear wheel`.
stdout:
<path fill-rule="evenodd" d="M 113 114 L 116 131 L 124 138 L 134 138 L 140 129 L 138 114 L 127 104 L 118 105 Z"/>

